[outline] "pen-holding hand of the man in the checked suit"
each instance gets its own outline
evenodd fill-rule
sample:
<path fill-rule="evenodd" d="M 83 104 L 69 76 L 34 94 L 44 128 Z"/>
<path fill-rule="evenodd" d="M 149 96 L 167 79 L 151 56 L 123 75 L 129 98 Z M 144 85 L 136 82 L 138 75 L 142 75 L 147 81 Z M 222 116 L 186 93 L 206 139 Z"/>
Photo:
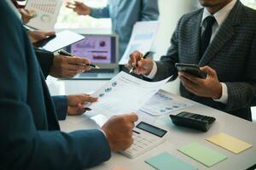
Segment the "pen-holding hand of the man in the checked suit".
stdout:
<path fill-rule="evenodd" d="M 152 71 L 153 65 L 153 61 L 150 58 L 143 59 L 143 54 L 135 51 L 130 55 L 130 60 L 125 67 L 130 70 L 132 67 L 135 67 L 134 72 L 136 74 L 148 76 L 148 74 Z"/>

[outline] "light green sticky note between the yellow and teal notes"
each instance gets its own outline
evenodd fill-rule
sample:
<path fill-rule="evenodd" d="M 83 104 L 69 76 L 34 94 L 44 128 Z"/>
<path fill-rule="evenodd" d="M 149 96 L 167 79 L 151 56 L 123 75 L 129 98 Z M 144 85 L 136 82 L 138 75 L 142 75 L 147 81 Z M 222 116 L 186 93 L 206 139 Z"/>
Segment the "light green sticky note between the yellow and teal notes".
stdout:
<path fill-rule="evenodd" d="M 224 159 L 227 158 L 227 156 L 224 156 L 198 143 L 187 144 L 178 149 L 178 151 L 187 156 L 190 156 L 196 161 L 201 162 L 207 167 L 212 167 L 216 163 L 224 161 Z"/>

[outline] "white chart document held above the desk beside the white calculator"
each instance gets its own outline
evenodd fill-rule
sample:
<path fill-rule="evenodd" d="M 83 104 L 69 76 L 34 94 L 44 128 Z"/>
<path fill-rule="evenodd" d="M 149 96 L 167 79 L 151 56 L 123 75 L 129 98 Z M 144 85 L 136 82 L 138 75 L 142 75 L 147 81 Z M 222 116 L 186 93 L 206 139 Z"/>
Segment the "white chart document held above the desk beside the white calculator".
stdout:
<path fill-rule="evenodd" d="M 92 96 L 98 101 L 90 105 L 86 115 L 102 114 L 107 118 L 138 111 L 171 77 L 160 82 L 146 82 L 130 74 L 120 72 Z"/>

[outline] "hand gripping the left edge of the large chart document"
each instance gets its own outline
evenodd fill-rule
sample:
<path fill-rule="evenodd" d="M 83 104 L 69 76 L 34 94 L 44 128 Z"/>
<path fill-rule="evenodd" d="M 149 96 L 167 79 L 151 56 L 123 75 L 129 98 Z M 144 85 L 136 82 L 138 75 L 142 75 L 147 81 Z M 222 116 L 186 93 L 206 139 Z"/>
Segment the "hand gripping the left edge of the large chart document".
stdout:
<path fill-rule="evenodd" d="M 90 111 L 90 108 L 84 108 L 84 103 L 96 102 L 97 98 L 91 97 L 89 94 L 77 94 L 67 96 L 67 115 L 78 116 L 85 111 Z"/>

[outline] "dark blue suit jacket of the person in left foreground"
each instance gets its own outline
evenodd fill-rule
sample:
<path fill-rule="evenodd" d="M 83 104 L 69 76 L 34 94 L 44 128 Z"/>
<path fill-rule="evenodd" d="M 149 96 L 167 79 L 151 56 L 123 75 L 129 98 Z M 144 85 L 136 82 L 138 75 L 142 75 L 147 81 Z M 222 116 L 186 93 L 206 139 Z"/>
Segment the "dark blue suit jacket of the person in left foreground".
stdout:
<path fill-rule="evenodd" d="M 1 169 L 82 169 L 107 161 L 99 130 L 60 132 L 32 45 L 5 1 L 0 20 Z"/>

